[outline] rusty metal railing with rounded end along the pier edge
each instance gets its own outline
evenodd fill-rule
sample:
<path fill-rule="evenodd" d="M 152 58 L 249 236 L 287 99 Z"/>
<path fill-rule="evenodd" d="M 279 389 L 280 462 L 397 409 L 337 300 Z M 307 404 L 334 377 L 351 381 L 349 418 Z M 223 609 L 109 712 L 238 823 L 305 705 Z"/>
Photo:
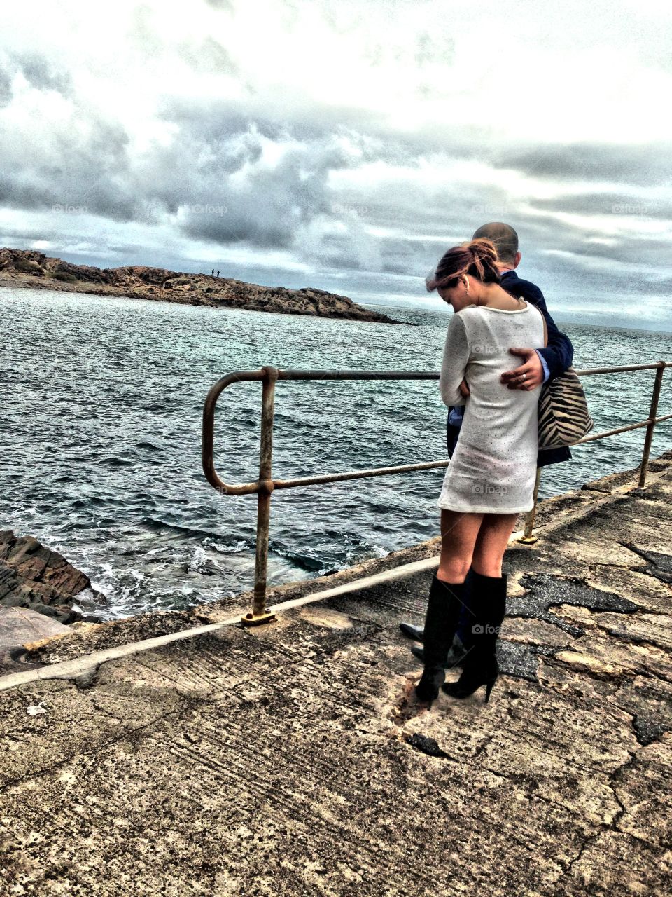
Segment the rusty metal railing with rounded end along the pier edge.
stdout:
<path fill-rule="evenodd" d="M 672 361 L 656 361 L 650 364 L 621 365 L 612 368 L 591 368 L 590 370 L 577 370 L 581 377 L 590 377 L 596 374 L 609 374 L 632 370 L 656 370 L 656 376 L 651 392 L 649 416 L 645 421 L 618 427 L 616 430 L 608 430 L 597 433 L 594 436 L 585 436 L 574 445 L 582 445 L 584 442 L 606 439 L 630 430 L 646 427 L 646 437 L 642 449 L 642 464 L 640 468 L 639 487 L 646 482 L 646 474 L 649 466 L 649 456 L 653 431 L 657 423 L 672 418 L 672 414 L 657 417 L 660 390 L 662 387 L 663 373 L 666 368 L 672 367 Z M 292 480 L 281 480 L 273 477 L 271 472 L 273 451 L 273 414 L 275 403 L 275 384 L 278 380 L 437 380 L 439 374 L 435 371 L 399 371 L 399 370 L 280 370 L 267 366 L 260 370 L 239 370 L 222 377 L 211 388 L 205 399 L 202 417 L 202 466 L 206 479 L 212 486 L 224 495 L 257 495 L 257 523 L 256 523 L 256 553 L 254 562 L 254 606 L 252 612 L 246 614 L 242 622 L 248 626 L 266 623 L 271 620 L 271 614 L 266 607 L 266 578 L 268 567 L 269 531 L 271 521 L 271 494 L 276 489 L 289 489 L 295 486 L 312 486 L 318 483 L 338 483 L 342 480 L 356 480 L 369 476 L 383 476 L 388 474 L 409 473 L 416 470 L 434 470 L 439 467 L 447 467 L 450 459 L 442 461 L 426 461 L 421 464 L 401 464 L 392 467 L 375 467 L 369 470 L 349 471 L 341 474 L 320 474 L 315 476 L 302 476 Z M 259 454 L 259 478 L 254 483 L 230 484 L 220 479 L 214 466 L 214 422 L 215 407 L 221 393 L 232 383 L 261 381 L 262 383 L 262 432 Z M 539 468 L 540 469 L 540 468 Z M 528 514 L 526 526 L 521 537 L 521 542 L 534 542 L 532 529 L 537 505 L 539 469 L 534 490 L 534 508 Z"/>

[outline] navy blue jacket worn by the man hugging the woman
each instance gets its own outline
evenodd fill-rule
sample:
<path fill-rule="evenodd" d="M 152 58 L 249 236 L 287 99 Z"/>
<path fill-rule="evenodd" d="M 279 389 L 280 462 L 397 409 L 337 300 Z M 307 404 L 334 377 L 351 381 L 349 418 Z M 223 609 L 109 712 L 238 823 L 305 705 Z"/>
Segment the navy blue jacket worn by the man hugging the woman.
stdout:
<path fill-rule="evenodd" d="M 518 296 L 526 302 L 536 305 L 539 311 L 546 319 L 546 327 L 548 331 L 548 344 L 545 349 L 539 349 L 540 355 L 543 355 L 544 361 L 548 367 L 548 379 L 552 380 L 567 370 L 572 365 L 574 357 L 574 347 L 569 336 L 558 330 L 556 322 L 551 318 L 546 307 L 544 294 L 539 290 L 536 283 L 522 280 L 515 271 L 504 271 L 501 280 L 502 286 L 506 292 L 510 292 L 512 296 Z M 512 355 L 512 368 L 516 367 L 521 361 L 516 361 Z M 450 409 L 449 409 L 450 414 Z M 455 450 L 458 436 L 460 435 L 460 427 L 448 424 L 448 457 L 452 457 Z M 567 461 L 572 457 L 572 452 L 568 446 L 560 448 L 539 448 L 537 457 L 537 466 L 544 467 L 547 464 L 557 464 L 560 461 Z"/>

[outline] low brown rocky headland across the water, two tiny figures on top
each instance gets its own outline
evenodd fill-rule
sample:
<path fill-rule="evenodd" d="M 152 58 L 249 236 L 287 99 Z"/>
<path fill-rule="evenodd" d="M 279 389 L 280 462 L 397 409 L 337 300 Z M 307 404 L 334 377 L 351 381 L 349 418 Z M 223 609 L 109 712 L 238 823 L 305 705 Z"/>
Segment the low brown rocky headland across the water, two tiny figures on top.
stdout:
<path fill-rule="evenodd" d="M 347 296 L 324 290 L 267 287 L 231 277 L 187 274 L 143 265 L 118 268 L 71 265 L 32 249 L 0 248 L 0 286 L 87 292 L 100 296 L 202 305 L 213 309 L 346 318 L 374 324 L 402 323 L 365 309 Z"/>

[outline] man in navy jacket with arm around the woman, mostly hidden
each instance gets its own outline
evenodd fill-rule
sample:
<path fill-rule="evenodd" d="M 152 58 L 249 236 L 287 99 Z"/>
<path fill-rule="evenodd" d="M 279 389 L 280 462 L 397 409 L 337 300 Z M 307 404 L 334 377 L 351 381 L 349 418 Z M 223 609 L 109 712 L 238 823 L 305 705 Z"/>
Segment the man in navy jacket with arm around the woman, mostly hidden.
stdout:
<path fill-rule="evenodd" d="M 546 318 L 548 331 L 546 348 L 533 349 L 512 346 L 509 352 L 519 356 L 523 361 L 517 368 L 507 370 L 501 376 L 502 383 L 505 383 L 509 389 L 534 389 L 541 383 L 546 383 L 548 379 L 554 379 L 572 365 L 573 345 L 569 337 L 558 330 L 556 322 L 548 314 L 544 294 L 539 290 L 538 286 L 530 283 L 530 281 L 521 280 L 518 274 L 515 273 L 515 269 L 521 263 L 521 253 L 518 249 L 518 234 L 513 230 L 513 227 L 502 222 L 490 222 L 479 227 L 471 239 L 478 239 L 479 237 L 490 239 L 495 244 L 497 255 L 502 263 L 499 266 L 499 273 L 504 290 L 510 292 L 513 296 L 531 302 L 532 305 L 536 305 L 544 318 Z M 463 396 L 469 396 L 469 385 L 465 380 L 462 380 L 460 390 Z M 448 457 L 452 457 L 460 436 L 463 410 L 463 405 L 456 405 L 448 409 Z M 562 448 L 539 449 L 537 466 L 543 467 L 547 464 L 557 464 L 571 457 L 572 453 L 566 446 Z M 460 625 L 452 643 L 452 648 L 445 659 L 445 666 L 459 664 L 469 650 L 470 618 L 472 615 L 467 602 L 462 608 Z M 424 632 L 418 626 L 411 626 L 410 623 L 400 623 L 400 629 L 410 639 L 422 641 L 424 638 Z M 414 645 L 411 651 L 417 658 L 424 660 L 422 648 Z"/>

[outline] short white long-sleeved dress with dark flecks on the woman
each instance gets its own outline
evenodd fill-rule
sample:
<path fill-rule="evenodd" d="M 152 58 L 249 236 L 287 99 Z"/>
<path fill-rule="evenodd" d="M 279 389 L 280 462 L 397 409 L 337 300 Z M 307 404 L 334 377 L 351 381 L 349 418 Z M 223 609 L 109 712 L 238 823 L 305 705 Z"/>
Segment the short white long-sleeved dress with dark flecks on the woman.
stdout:
<path fill-rule="evenodd" d="M 509 389 L 500 382 L 504 370 L 522 363 L 509 352 L 513 346 L 544 347 L 544 318 L 529 302 L 513 311 L 470 305 L 451 319 L 439 388 L 446 405 L 465 408 L 440 508 L 486 514 L 532 508 L 541 387 Z M 466 399 L 462 378 L 470 388 Z"/>

